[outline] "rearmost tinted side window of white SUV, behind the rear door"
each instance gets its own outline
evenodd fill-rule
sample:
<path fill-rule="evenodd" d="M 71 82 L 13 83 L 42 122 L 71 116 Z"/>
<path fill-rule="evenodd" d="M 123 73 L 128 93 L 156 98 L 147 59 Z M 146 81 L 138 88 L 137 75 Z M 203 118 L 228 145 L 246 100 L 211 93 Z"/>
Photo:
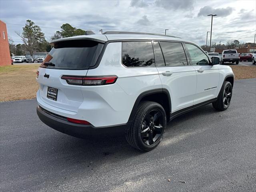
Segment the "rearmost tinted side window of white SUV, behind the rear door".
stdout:
<path fill-rule="evenodd" d="M 126 67 L 154 66 L 154 53 L 149 42 L 122 42 L 122 62 Z"/>

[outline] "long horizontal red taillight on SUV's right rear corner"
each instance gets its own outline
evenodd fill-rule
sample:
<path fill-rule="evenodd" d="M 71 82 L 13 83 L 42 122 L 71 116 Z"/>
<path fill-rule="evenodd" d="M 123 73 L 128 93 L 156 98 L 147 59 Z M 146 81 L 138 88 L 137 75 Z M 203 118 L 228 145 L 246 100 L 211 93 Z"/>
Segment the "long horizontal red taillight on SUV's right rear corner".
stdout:
<path fill-rule="evenodd" d="M 83 86 L 93 86 L 93 85 L 109 85 L 113 84 L 117 80 L 117 76 L 98 76 L 98 77 L 78 77 L 78 76 L 62 76 L 62 79 L 70 85 L 83 85 Z"/>

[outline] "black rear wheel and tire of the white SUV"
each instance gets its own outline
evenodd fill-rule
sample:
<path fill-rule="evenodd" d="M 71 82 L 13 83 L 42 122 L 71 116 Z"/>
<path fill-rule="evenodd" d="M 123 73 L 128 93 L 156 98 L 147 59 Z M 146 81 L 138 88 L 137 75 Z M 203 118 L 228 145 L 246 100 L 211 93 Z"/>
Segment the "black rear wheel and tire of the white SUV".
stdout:
<path fill-rule="evenodd" d="M 130 130 L 126 133 L 127 142 L 134 148 L 147 152 L 161 142 L 166 129 L 164 108 L 151 101 L 140 103 Z"/>

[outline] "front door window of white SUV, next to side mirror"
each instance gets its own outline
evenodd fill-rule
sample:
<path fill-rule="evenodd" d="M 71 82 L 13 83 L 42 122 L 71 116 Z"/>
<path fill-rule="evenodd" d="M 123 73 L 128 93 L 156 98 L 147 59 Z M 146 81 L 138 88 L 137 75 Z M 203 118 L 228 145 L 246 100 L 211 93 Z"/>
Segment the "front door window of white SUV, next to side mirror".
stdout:
<path fill-rule="evenodd" d="M 209 59 L 197 46 L 186 44 L 191 58 L 191 65 L 208 65 Z"/>

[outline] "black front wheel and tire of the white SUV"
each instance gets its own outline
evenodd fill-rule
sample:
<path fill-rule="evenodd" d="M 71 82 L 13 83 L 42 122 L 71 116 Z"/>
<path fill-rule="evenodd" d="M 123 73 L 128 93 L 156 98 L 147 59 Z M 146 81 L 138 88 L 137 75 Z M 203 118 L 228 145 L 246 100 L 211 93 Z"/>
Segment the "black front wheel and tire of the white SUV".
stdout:
<path fill-rule="evenodd" d="M 232 98 L 232 84 L 228 81 L 224 81 L 220 93 L 218 95 L 217 101 L 212 103 L 212 106 L 216 110 L 226 110 L 230 106 L 230 101 Z"/>

